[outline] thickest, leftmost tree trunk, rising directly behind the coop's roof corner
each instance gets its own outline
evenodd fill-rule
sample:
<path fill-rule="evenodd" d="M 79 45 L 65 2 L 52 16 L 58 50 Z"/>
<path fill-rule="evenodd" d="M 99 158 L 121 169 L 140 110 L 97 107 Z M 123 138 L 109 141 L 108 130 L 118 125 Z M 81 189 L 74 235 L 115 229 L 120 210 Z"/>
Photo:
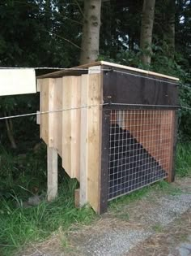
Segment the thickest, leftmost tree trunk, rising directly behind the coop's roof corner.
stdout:
<path fill-rule="evenodd" d="M 84 0 L 83 38 L 80 63 L 91 63 L 99 54 L 101 0 Z"/>

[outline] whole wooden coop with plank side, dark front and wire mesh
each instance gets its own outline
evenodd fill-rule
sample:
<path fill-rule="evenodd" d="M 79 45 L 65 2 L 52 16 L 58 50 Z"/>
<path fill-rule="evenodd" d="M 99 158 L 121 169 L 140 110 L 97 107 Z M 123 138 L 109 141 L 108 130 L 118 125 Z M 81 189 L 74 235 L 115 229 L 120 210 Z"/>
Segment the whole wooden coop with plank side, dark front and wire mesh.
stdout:
<path fill-rule="evenodd" d="M 76 201 L 98 213 L 116 197 L 172 181 L 177 81 L 107 62 L 39 76 L 49 200 L 57 195 L 57 154 L 67 174 L 79 180 Z"/>

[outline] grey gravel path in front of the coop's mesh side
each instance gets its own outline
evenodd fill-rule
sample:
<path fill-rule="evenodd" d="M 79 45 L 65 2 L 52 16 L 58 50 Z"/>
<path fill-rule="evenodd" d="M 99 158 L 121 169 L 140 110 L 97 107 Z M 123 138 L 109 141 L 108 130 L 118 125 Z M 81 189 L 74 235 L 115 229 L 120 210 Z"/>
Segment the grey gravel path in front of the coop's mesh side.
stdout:
<path fill-rule="evenodd" d="M 140 202 L 139 202 L 140 203 Z M 142 201 L 146 205 L 146 199 Z M 97 227 L 92 227 L 85 232 L 73 234 L 72 241 L 75 241 L 81 255 L 95 256 L 121 256 L 129 252 L 138 243 L 155 234 L 155 229 L 166 227 L 176 218 L 191 208 L 191 194 L 184 193 L 176 196 L 160 197 L 155 204 L 147 202 L 148 207 L 142 208 L 139 222 L 134 223 L 132 228 L 125 225 L 123 221 L 117 222 L 114 219 L 104 219 Z M 130 215 L 137 213 L 136 207 L 131 209 Z M 140 217 L 140 216 L 138 216 Z M 134 221 L 136 216 L 134 218 Z M 100 228 L 99 228 L 100 227 Z M 100 229 L 99 233 L 96 230 Z M 172 256 L 172 255 L 171 255 Z M 185 255 L 183 255 L 185 256 Z M 189 255 L 186 255 L 189 256 Z M 191 256 L 191 255 L 190 255 Z"/>

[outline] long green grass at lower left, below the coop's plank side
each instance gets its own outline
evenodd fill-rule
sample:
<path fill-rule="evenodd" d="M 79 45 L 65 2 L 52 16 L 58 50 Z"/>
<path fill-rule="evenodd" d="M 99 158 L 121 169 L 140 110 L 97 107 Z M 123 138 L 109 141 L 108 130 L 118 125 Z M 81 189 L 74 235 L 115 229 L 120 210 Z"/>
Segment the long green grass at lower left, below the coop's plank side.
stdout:
<path fill-rule="evenodd" d="M 54 202 L 23 208 L 22 203 L 2 198 L 0 203 L 0 255 L 13 255 L 28 242 L 45 240 L 58 228 L 66 230 L 72 223 L 91 223 L 96 214 L 90 207 L 74 207 L 76 182 L 63 184 Z M 19 201 L 19 199 L 17 199 Z M 19 201 L 20 202 L 20 201 Z"/>

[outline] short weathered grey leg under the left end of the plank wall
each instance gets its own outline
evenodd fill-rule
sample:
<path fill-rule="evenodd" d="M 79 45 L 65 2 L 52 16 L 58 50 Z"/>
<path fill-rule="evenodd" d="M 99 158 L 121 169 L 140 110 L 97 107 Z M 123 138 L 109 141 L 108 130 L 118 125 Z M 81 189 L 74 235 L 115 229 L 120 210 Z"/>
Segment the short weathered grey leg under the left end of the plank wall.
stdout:
<path fill-rule="evenodd" d="M 47 195 L 48 201 L 57 197 L 57 150 L 47 146 Z"/>

